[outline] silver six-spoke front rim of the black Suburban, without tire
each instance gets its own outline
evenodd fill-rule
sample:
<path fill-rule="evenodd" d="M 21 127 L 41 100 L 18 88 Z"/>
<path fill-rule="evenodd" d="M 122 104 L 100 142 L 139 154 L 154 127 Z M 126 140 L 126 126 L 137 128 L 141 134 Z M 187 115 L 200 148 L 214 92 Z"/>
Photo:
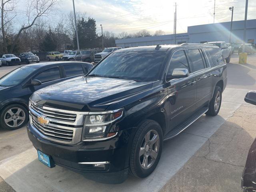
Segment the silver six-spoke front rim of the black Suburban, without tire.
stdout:
<path fill-rule="evenodd" d="M 159 135 L 156 130 L 150 130 L 144 136 L 140 145 L 140 165 L 143 169 L 150 168 L 158 156 L 160 146 Z"/>

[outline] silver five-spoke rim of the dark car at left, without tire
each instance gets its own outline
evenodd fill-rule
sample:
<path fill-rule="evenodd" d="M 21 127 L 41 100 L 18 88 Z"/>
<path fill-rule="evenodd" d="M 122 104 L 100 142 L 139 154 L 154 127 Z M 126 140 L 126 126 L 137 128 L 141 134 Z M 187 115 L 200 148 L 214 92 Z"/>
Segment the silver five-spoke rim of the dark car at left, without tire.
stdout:
<path fill-rule="evenodd" d="M 9 127 L 18 127 L 25 121 L 25 112 L 21 108 L 10 108 L 4 114 L 4 122 Z"/>

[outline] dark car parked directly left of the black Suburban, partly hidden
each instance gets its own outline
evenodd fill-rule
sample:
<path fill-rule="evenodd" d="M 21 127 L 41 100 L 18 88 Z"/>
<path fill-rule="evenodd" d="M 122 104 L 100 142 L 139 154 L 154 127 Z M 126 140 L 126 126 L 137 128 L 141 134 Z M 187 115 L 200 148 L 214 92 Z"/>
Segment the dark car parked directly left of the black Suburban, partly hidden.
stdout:
<path fill-rule="evenodd" d="M 85 62 L 47 62 L 21 66 L 0 78 L 0 128 L 15 130 L 28 120 L 28 100 L 43 87 L 88 73 Z"/>

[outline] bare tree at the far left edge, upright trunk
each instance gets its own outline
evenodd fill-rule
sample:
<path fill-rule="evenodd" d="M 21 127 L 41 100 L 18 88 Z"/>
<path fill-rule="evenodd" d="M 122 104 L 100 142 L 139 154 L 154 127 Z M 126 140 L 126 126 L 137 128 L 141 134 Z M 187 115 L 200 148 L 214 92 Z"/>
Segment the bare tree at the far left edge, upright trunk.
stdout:
<path fill-rule="evenodd" d="M 16 12 L 14 11 L 16 2 L 14 0 L 1 0 L 0 10 L 1 10 L 1 28 L 2 31 L 2 42 L 3 42 L 3 52 L 7 53 L 6 44 L 6 31 L 10 27 L 12 20 L 16 17 Z"/>

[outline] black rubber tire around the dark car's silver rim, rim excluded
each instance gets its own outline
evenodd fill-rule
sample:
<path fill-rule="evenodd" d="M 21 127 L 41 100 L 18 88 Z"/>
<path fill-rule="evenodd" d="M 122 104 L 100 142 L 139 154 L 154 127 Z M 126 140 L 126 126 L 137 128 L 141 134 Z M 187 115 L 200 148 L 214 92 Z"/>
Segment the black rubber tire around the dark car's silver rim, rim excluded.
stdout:
<path fill-rule="evenodd" d="M 18 127 L 14 128 L 14 127 L 9 127 L 8 125 L 6 125 L 6 123 L 4 122 L 4 114 L 6 113 L 6 111 L 8 111 L 10 108 L 14 108 L 14 107 L 18 107 L 21 108 L 22 110 L 24 110 L 25 112 L 25 121 Z M 20 104 L 10 104 L 8 106 L 6 106 L 5 108 L 3 108 L 3 110 L 1 110 L 2 112 L 0 113 L 0 127 L 4 128 L 4 129 L 8 129 L 8 130 L 16 130 L 21 128 L 22 126 L 24 126 L 27 122 L 28 122 L 28 110 L 20 105 Z"/>

